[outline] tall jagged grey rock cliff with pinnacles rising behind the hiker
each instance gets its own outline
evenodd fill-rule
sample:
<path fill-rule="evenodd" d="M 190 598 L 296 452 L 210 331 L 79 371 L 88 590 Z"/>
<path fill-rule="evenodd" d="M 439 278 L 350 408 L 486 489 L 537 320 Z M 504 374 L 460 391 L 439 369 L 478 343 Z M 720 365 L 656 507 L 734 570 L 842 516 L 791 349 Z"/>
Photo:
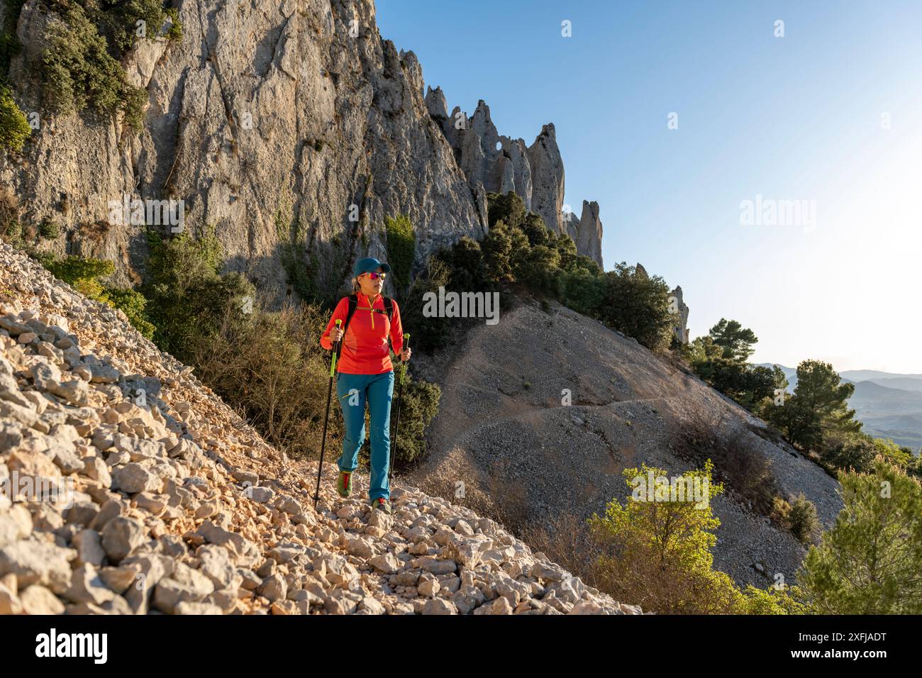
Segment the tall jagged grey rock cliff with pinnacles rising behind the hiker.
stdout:
<path fill-rule="evenodd" d="M 0 182 L 21 222 L 62 227 L 57 252 L 112 259 L 118 282 L 136 282 L 145 226 L 113 219 L 112 203 L 181 200 L 183 227 L 213 227 L 228 267 L 278 300 L 292 267 L 336 287 L 357 256 L 384 257 L 385 216 L 408 214 L 419 267 L 482 236 L 486 191 L 509 188 L 601 262 L 597 208 L 562 223 L 553 125 L 526 148 L 497 137 L 481 102 L 455 134 L 444 106 L 424 101 L 415 54 L 380 36 L 372 0 L 176 6 L 182 40 L 150 36 L 127 57 L 148 96 L 137 134 L 119 118 L 45 113 L 38 73 L 53 9 L 22 7 L 9 79 L 40 126 L 21 156 L 0 155 Z"/>

